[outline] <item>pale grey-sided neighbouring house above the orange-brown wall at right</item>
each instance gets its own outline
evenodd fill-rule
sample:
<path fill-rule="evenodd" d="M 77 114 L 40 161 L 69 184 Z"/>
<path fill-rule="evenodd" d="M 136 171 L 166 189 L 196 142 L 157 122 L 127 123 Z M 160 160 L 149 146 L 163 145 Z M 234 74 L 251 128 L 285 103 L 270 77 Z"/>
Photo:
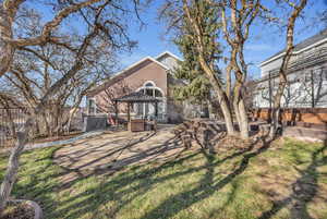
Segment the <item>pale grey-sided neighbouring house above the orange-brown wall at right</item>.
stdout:
<path fill-rule="evenodd" d="M 271 108 L 283 54 L 284 50 L 261 63 L 262 78 L 257 82 L 255 108 Z M 287 74 L 283 108 L 327 107 L 327 29 L 294 46 Z"/>

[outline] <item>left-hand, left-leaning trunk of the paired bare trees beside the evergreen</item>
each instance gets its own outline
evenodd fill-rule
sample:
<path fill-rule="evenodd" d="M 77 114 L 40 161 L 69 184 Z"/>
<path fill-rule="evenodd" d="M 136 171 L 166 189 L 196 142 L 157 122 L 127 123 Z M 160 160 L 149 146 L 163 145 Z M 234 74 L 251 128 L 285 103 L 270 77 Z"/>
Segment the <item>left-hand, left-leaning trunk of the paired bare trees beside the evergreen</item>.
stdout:
<path fill-rule="evenodd" d="M 215 95 L 225 118 L 227 132 L 229 135 L 234 135 L 235 130 L 233 125 L 231 106 L 229 105 L 228 96 L 223 89 L 225 83 L 219 76 L 221 72 L 217 69 L 217 61 L 219 60 L 219 57 L 217 57 L 217 48 L 215 48 L 215 45 L 216 47 L 218 46 L 218 33 L 211 33 L 211 35 L 205 33 L 205 29 L 207 29 L 205 25 L 208 24 L 204 22 L 206 21 L 206 17 L 204 17 L 202 10 L 207 9 L 208 5 L 204 7 L 203 4 L 208 4 L 208 2 L 194 0 L 167 0 L 160 14 L 162 14 L 161 17 L 168 21 L 168 31 L 175 31 L 177 37 L 179 37 L 179 34 L 183 34 L 180 33 L 183 25 L 189 26 L 190 29 L 192 29 L 193 33 L 186 34 L 196 49 L 196 59 L 215 90 Z"/>

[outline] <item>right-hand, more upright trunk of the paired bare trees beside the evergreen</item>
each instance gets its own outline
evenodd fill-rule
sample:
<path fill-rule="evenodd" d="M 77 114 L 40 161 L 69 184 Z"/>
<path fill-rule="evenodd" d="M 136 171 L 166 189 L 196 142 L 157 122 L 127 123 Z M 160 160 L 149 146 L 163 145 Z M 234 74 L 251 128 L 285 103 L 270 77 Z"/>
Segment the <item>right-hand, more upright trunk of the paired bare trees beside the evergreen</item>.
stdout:
<path fill-rule="evenodd" d="M 211 1 L 210 1 L 211 2 Z M 250 36 L 250 29 L 255 19 L 263 11 L 261 0 L 238 1 L 223 0 L 220 3 L 223 38 L 230 48 L 229 63 L 226 68 L 226 93 L 232 101 L 233 111 L 240 126 L 241 136 L 249 138 L 249 121 L 242 89 L 247 76 L 247 64 L 244 58 L 244 45 Z M 235 78 L 232 100 L 231 72 Z"/>

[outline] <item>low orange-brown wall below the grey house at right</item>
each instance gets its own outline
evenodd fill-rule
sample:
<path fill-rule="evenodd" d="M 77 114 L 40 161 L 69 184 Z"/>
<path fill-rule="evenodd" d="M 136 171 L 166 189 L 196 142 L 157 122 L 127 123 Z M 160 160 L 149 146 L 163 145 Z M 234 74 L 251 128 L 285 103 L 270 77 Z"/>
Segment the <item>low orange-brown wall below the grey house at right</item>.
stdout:
<path fill-rule="evenodd" d="M 254 109 L 254 119 L 270 120 L 270 109 Z M 292 108 L 282 109 L 280 120 L 282 123 L 327 129 L 327 108 Z"/>

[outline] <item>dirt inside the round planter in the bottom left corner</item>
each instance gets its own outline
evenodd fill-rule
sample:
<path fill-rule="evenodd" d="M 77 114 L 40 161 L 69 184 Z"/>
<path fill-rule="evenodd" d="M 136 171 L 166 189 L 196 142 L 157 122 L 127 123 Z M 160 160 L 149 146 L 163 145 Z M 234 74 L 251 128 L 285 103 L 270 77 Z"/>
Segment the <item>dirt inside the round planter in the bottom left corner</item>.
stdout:
<path fill-rule="evenodd" d="M 5 209 L 1 219 L 33 219 L 34 208 L 26 203 L 10 204 Z"/>

